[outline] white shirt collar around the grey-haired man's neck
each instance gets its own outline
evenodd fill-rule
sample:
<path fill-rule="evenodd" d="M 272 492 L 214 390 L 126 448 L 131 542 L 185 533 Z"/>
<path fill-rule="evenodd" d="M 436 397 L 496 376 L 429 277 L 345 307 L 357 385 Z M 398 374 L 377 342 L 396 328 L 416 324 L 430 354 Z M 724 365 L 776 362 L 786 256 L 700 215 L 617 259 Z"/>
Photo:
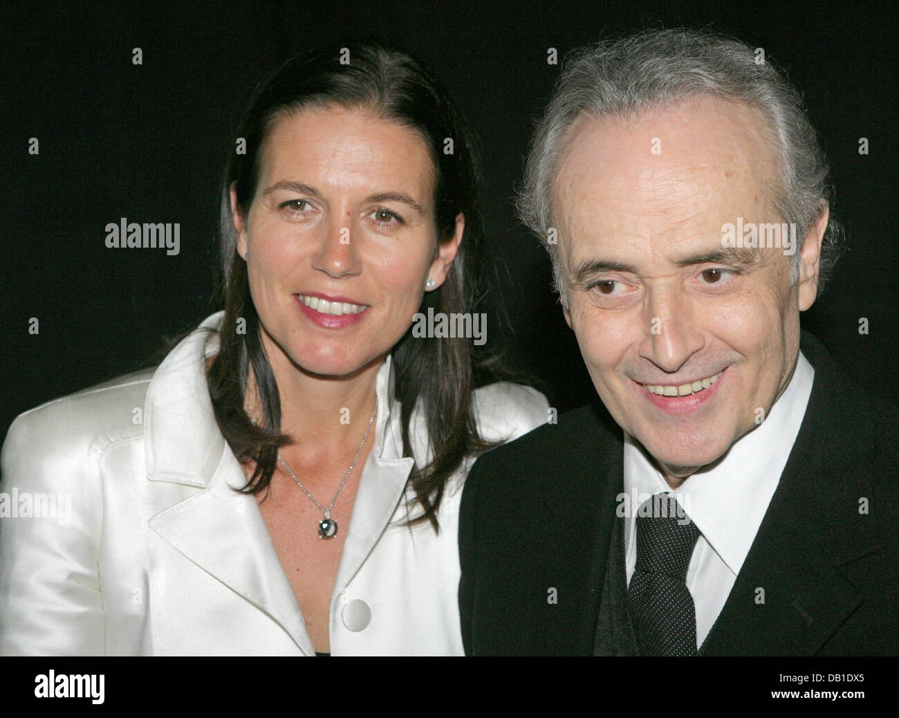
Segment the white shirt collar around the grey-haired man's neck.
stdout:
<path fill-rule="evenodd" d="M 633 533 L 636 507 L 649 495 L 670 491 L 722 561 L 738 574 L 778 488 L 813 381 L 814 369 L 799 352 L 787 389 L 761 425 L 734 442 L 713 467 L 697 471 L 673 491 L 636 438 L 625 432 L 624 488 L 632 507 L 625 545 Z"/>

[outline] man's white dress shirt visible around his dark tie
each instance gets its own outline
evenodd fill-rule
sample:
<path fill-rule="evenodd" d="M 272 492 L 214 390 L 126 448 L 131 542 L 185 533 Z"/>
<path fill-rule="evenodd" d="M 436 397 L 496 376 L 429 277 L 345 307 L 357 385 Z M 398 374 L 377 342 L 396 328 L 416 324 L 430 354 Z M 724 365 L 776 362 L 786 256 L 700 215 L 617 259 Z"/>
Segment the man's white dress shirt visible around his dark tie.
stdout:
<path fill-rule="evenodd" d="M 761 425 L 734 442 L 714 467 L 697 471 L 678 489 L 668 486 L 636 439 L 625 432 L 624 489 L 632 507 L 624 529 L 628 584 L 636 564 L 636 508 L 652 494 L 670 492 L 702 532 L 687 570 L 687 588 L 696 606 L 697 648 L 725 606 L 778 488 L 813 381 L 814 369 L 800 352 L 787 389 Z"/>

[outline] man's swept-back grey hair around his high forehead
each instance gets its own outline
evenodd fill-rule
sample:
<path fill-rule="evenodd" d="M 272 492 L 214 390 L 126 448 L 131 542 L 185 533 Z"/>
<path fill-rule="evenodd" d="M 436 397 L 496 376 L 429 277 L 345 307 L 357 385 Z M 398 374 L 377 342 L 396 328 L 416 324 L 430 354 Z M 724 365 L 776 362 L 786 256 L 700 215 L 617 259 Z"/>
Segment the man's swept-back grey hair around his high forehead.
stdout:
<path fill-rule="evenodd" d="M 521 220 L 549 252 L 553 282 L 565 307 L 567 287 L 558 256 L 561 238 L 554 206 L 556 174 L 569 130 L 584 115 L 628 117 L 705 97 L 744 103 L 767 124 L 765 134 L 779 161 L 773 206 L 784 221 L 796 225 L 797 245 L 824 208 L 832 205 L 828 166 L 802 96 L 761 53 L 762 49 L 711 32 L 654 30 L 601 41 L 566 58 L 531 142 L 518 197 Z M 831 213 L 821 249 L 818 294 L 832 274 L 842 234 Z M 798 246 L 796 250 L 790 270 L 794 284 L 799 277 Z"/>

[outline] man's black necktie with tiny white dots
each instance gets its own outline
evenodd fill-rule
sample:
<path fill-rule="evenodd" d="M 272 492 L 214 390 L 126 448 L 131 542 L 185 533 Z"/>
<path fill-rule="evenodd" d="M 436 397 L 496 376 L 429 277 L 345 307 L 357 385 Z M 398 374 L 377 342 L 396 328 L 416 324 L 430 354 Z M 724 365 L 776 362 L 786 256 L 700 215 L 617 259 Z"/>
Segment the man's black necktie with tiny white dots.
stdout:
<path fill-rule="evenodd" d="M 696 655 L 696 606 L 686 579 L 697 539 L 699 529 L 672 494 L 655 494 L 638 509 L 628 614 L 641 655 Z"/>

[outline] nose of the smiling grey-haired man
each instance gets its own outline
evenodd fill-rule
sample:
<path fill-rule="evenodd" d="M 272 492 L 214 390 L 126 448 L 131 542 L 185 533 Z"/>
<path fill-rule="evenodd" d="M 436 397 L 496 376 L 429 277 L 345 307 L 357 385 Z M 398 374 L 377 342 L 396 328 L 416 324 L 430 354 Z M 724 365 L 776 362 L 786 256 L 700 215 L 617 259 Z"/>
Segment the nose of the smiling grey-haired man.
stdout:
<path fill-rule="evenodd" d="M 695 309 L 683 292 L 671 288 L 650 290 L 646 336 L 640 355 L 664 372 L 680 370 L 704 345 Z"/>

